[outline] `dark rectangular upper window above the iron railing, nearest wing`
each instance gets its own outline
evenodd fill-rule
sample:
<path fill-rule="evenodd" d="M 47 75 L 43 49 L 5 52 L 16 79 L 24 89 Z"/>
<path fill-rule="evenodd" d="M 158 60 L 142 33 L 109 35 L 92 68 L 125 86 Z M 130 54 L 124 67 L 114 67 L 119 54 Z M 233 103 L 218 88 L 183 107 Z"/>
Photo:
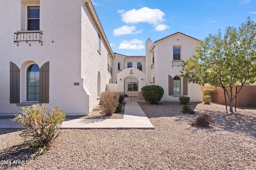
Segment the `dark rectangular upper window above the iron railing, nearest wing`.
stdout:
<path fill-rule="evenodd" d="M 40 30 L 39 6 L 28 6 L 28 30 Z"/>

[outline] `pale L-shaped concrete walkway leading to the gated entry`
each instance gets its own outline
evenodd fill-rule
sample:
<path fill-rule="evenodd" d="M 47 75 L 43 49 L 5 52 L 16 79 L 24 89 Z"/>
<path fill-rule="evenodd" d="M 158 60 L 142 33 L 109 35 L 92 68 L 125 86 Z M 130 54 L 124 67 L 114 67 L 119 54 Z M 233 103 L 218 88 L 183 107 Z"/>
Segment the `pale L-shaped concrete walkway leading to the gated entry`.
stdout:
<path fill-rule="evenodd" d="M 22 128 L 8 119 L 0 119 L 0 128 Z M 65 119 L 61 129 L 154 129 L 136 101 L 126 101 L 123 119 Z"/>

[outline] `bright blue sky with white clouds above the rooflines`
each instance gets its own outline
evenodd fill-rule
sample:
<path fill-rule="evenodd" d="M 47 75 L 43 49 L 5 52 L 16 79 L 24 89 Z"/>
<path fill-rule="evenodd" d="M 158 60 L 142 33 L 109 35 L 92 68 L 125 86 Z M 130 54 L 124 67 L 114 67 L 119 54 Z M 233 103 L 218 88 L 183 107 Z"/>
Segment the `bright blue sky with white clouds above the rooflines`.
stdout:
<path fill-rule="evenodd" d="M 227 26 L 256 21 L 256 0 L 93 0 L 112 51 L 145 55 L 153 42 L 182 32 L 203 40 Z"/>

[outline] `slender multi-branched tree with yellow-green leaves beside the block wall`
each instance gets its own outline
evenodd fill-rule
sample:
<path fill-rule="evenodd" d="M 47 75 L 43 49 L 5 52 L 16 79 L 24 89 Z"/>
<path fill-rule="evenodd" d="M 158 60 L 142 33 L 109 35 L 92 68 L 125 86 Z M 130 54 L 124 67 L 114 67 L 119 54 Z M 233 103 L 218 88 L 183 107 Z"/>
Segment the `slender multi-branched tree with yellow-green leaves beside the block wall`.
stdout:
<path fill-rule="evenodd" d="M 184 61 L 181 76 L 188 82 L 223 88 L 233 112 L 233 100 L 242 87 L 256 81 L 256 23 L 248 17 L 238 29 L 226 27 L 223 36 L 220 30 L 209 34 L 195 51 Z M 234 86 L 240 86 L 237 92 Z"/>

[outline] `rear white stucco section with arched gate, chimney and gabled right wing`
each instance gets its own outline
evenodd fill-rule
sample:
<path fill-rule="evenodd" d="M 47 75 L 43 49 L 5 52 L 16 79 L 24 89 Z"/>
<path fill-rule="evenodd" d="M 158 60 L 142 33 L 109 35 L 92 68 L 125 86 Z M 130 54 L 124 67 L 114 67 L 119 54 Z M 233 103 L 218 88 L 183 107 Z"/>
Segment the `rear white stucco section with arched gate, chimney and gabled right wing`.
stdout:
<path fill-rule="evenodd" d="M 164 89 L 162 101 L 179 101 L 180 96 L 202 101 L 200 86 L 180 76 L 183 61 L 192 57 L 198 43 L 198 39 L 177 32 L 154 43 L 147 39 L 146 56 L 114 53 L 112 79 L 116 84 L 107 84 L 107 90 L 125 94 L 127 99 L 144 100 L 141 88 L 156 84 Z"/>

